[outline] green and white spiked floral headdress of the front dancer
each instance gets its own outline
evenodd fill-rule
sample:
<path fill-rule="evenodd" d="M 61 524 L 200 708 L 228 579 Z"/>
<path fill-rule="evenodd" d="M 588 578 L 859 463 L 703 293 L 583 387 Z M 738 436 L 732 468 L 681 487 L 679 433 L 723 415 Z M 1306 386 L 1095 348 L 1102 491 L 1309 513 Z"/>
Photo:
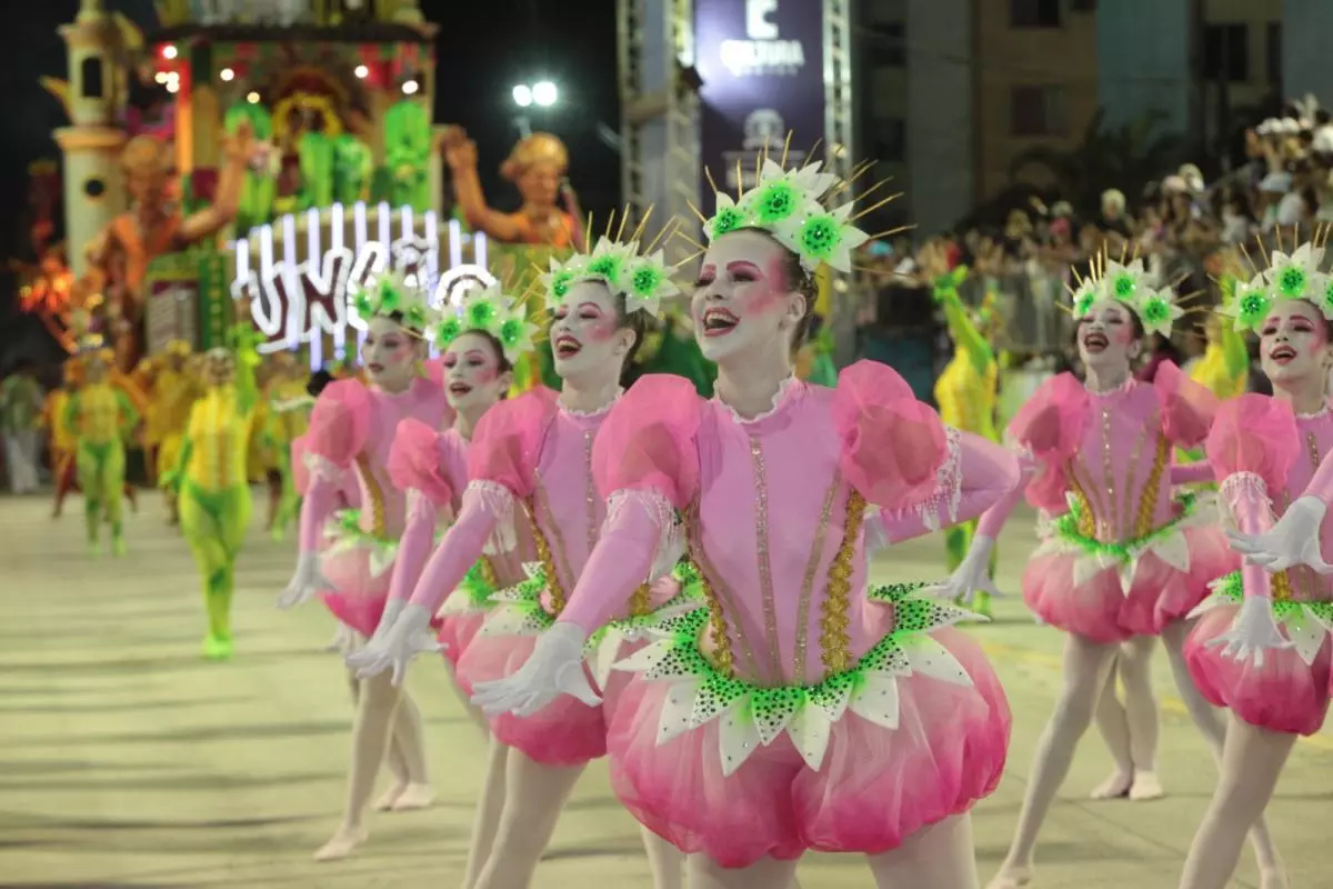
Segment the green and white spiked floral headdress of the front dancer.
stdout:
<path fill-rule="evenodd" d="M 825 207 L 837 176 L 820 169 L 816 161 L 784 171 L 765 159 L 754 188 L 742 192 L 738 200 L 717 192 L 716 211 L 704 223 L 704 235 L 712 243 L 741 228 L 760 229 L 800 256 L 806 272 L 825 263 L 838 272 L 850 272 L 852 251 L 870 236 L 852 224 L 852 201 L 833 209 Z"/>

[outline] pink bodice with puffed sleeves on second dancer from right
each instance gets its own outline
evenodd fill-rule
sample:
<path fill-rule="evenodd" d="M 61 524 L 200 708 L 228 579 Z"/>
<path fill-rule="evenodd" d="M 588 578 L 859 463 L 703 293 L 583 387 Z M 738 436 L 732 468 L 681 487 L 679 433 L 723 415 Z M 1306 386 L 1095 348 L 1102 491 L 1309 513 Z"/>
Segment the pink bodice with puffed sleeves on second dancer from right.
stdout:
<path fill-rule="evenodd" d="M 1162 363 L 1154 383 L 1130 379 L 1106 393 L 1089 392 L 1069 375 L 1054 377 L 1009 433 L 1037 458 L 1028 488 L 1034 506 L 1062 513 L 1072 498 L 1090 516 L 1085 533 L 1128 542 L 1177 516 L 1172 453 L 1197 446 L 1214 411 L 1205 388 Z"/>

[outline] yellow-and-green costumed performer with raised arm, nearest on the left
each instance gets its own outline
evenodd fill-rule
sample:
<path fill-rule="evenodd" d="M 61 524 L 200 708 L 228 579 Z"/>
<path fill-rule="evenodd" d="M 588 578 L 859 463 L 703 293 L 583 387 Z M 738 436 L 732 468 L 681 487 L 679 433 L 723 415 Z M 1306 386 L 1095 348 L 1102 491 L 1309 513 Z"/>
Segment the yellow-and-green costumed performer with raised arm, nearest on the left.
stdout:
<path fill-rule="evenodd" d="M 189 413 L 176 468 L 161 484 L 179 492 L 180 526 L 204 578 L 208 633 L 204 657 L 232 656 L 232 592 L 236 557 L 251 520 L 245 443 L 259 404 L 259 353 L 249 328 L 233 332 L 237 351 L 205 355 L 204 395 Z"/>

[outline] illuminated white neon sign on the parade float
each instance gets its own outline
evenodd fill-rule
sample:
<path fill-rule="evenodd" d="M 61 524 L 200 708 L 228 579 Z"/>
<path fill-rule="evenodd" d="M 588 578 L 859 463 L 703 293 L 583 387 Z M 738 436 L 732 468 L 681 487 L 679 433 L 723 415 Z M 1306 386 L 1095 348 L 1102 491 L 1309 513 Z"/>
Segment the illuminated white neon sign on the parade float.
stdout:
<path fill-rule="evenodd" d="M 267 337 L 260 352 L 308 345 L 311 367 L 319 368 L 324 365 L 327 336 L 333 343 L 333 357 L 344 359 L 348 331 L 355 331 L 359 340 L 365 336 L 365 321 L 357 316 L 352 297 L 385 271 L 419 281 L 432 292 L 431 304 L 436 308 L 459 305 L 469 289 L 495 283 L 487 271 L 485 236 L 465 235 L 457 220 L 445 227 L 448 265 L 441 273 L 440 223 L 433 211 L 421 215 L 419 235 L 411 207 L 393 209 L 379 204 L 371 209 L 353 204 L 351 245 L 348 216 L 341 204 L 308 209 L 264 225 L 236 243 L 232 299 L 249 300 L 255 327 Z M 299 249 L 301 228 L 304 251 Z M 464 261 L 465 244 L 471 245 L 471 263 Z M 281 259 L 276 256 L 279 247 Z M 257 263 L 253 252 L 259 253 Z"/>

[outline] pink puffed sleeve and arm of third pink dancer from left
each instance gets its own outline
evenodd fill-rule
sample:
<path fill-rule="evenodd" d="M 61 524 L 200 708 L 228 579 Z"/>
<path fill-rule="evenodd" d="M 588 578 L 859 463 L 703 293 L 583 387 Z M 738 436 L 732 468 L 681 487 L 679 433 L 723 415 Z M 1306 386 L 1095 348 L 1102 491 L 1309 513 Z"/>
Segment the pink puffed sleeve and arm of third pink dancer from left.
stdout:
<path fill-rule="evenodd" d="M 492 534 L 501 550 L 515 546 L 515 498 L 529 497 L 536 486 L 541 444 L 555 413 L 556 393 L 539 388 L 501 401 L 481 417 L 468 448 L 463 505 L 421 572 L 413 605 L 437 612 Z"/>

